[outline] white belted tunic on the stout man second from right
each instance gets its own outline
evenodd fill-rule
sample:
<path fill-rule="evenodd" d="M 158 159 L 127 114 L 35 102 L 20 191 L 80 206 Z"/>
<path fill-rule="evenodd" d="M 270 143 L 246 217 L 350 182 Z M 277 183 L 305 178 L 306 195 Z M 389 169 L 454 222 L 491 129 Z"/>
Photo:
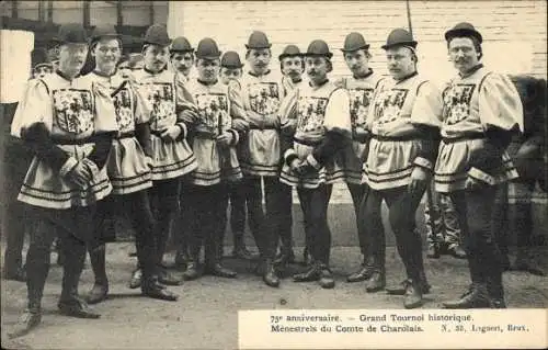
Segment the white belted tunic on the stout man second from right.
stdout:
<path fill-rule="evenodd" d="M 365 181 L 372 189 L 408 185 L 415 165 L 430 163 L 419 157 L 421 135 L 416 125 L 439 127 L 441 115 L 442 94 L 420 75 L 380 82 L 366 122 L 373 138 L 365 163 Z"/>

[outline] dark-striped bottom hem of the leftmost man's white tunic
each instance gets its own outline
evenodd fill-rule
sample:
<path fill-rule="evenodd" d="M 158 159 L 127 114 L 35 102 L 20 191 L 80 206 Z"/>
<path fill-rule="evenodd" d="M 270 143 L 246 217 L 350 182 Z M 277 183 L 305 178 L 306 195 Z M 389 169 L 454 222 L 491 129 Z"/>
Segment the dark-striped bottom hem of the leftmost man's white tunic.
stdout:
<path fill-rule="evenodd" d="M 109 180 L 103 180 L 94 184 L 90 190 L 91 192 L 73 190 L 59 193 L 23 184 L 18 200 L 34 206 L 58 210 L 89 206 L 107 196 L 112 192 L 112 184 Z"/>

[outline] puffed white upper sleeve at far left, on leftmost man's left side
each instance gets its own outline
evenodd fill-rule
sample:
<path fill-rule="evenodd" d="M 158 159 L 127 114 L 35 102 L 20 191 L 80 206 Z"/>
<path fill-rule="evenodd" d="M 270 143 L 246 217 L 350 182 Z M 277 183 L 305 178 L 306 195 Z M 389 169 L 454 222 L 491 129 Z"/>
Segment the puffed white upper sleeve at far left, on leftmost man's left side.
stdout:
<path fill-rule="evenodd" d="M 13 121 L 11 123 L 11 135 L 22 138 L 22 131 L 34 124 L 43 124 L 42 127 L 52 132 L 54 105 L 46 83 L 41 79 L 27 82 L 23 99 L 18 104 Z"/>

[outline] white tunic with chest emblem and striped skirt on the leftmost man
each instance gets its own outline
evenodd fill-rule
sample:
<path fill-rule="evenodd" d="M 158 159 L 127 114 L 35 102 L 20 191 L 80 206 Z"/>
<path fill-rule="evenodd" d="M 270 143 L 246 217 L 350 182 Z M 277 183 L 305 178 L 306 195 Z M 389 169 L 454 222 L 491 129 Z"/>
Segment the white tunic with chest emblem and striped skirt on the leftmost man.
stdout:
<path fill-rule="evenodd" d="M 35 156 L 21 188 L 20 201 L 67 210 L 94 204 L 111 193 L 106 167 L 99 169 L 91 161 L 93 178 L 88 188 L 80 189 L 66 178 L 70 168 L 93 151 L 93 134 L 117 131 L 114 104 L 106 87 L 87 78 L 67 80 L 58 74 L 31 80 L 15 112 L 12 135 L 21 137 L 22 129 L 37 123 L 45 125 L 57 147 L 70 158 L 59 171 Z"/>

